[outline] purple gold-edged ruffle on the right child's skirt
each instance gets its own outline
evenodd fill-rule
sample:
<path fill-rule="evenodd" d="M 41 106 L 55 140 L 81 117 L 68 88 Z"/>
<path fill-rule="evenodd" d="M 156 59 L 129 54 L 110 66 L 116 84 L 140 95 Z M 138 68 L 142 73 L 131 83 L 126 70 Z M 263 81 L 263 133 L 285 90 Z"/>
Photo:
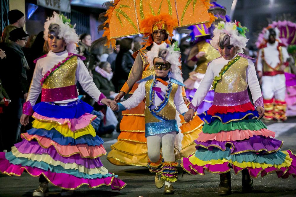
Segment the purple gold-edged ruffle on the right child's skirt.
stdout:
<path fill-rule="evenodd" d="M 206 141 L 206 142 L 199 142 L 194 140 L 196 144 L 196 149 L 199 147 L 207 148 L 209 150 L 213 150 L 213 148 L 219 148 L 223 151 L 226 150 L 227 144 L 230 145 L 231 154 L 239 154 L 242 152 L 275 152 L 278 151 L 283 141 L 276 140 L 270 137 L 264 136 L 253 136 L 249 139 L 245 139 L 242 141 Z"/>

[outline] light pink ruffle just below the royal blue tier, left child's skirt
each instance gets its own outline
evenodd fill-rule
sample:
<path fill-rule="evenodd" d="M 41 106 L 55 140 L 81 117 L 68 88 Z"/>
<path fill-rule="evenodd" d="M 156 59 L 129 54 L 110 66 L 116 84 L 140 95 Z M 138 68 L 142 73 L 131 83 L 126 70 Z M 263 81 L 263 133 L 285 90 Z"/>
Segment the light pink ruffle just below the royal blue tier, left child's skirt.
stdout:
<path fill-rule="evenodd" d="M 33 117 L 39 121 L 47 120 L 47 121 L 58 122 L 61 125 L 67 124 L 71 131 L 76 131 L 78 129 L 87 127 L 91 123 L 91 121 L 93 121 L 96 118 L 96 115 L 85 113 L 79 118 L 69 119 L 69 118 L 50 118 L 34 112 Z"/>

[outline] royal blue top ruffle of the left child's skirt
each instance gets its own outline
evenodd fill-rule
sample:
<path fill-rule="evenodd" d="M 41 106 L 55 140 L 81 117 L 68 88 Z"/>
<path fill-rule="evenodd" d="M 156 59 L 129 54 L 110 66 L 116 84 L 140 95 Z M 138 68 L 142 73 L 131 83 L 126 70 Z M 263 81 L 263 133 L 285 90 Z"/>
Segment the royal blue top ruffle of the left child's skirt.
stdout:
<path fill-rule="evenodd" d="M 52 105 L 47 102 L 39 102 L 33 106 L 33 110 L 50 118 L 79 118 L 85 113 L 91 113 L 94 108 L 83 101 L 68 103 L 67 106 Z"/>

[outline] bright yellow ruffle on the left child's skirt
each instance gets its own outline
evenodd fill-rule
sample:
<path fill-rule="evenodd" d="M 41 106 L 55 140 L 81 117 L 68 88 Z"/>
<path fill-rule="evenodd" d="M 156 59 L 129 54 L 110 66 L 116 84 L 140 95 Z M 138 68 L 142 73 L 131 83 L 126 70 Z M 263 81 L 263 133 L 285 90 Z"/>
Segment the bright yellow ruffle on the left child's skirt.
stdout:
<path fill-rule="evenodd" d="M 61 133 L 63 136 L 72 137 L 74 139 L 88 134 L 91 134 L 93 137 L 96 136 L 96 131 L 94 130 L 93 126 L 91 126 L 91 124 L 75 132 L 71 131 L 67 125 L 59 125 L 53 122 L 44 123 L 38 120 L 34 120 L 32 126 L 34 128 L 43 128 L 46 130 L 51 130 L 52 128 L 54 128 L 57 131 L 59 131 L 59 133 Z"/>

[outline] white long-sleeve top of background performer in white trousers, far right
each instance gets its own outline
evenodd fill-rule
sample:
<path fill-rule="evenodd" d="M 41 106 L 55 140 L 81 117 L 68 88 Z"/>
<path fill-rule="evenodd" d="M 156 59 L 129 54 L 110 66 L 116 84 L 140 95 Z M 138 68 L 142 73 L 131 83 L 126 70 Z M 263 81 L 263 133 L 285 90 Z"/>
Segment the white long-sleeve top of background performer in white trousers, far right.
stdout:
<path fill-rule="evenodd" d="M 279 62 L 279 50 L 277 49 L 277 46 L 279 45 L 279 42 L 276 41 L 275 43 L 266 43 L 266 47 L 262 48 L 258 52 L 258 61 L 257 61 L 257 70 L 263 71 L 263 64 L 262 64 L 262 51 L 264 50 L 264 59 L 267 64 L 269 64 L 272 68 L 275 68 Z M 281 47 L 281 53 L 282 53 L 282 60 L 283 63 L 287 61 L 287 58 L 289 58 L 289 54 L 286 47 Z"/>

